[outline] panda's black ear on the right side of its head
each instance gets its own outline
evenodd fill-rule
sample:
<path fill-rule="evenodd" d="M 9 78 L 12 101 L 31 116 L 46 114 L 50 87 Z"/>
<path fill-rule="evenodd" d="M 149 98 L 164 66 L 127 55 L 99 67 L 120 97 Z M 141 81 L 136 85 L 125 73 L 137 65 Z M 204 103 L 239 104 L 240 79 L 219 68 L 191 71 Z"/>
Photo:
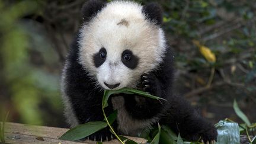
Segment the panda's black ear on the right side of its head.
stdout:
<path fill-rule="evenodd" d="M 162 25 L 162 8 L 155 2 L 151 2 L 142 8 L 142 12 L 146 15 L 148 20 L 156 23 L 157 25 Z"/>

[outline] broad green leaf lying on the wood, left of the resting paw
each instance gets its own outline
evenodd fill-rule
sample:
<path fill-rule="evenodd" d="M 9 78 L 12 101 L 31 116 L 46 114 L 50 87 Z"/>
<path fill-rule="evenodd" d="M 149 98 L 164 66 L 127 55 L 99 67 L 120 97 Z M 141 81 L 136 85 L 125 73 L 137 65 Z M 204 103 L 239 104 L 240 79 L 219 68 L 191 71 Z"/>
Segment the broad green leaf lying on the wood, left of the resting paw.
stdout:
<path fill-rule="evenodd" d="M 107 123 L 103 121 L 89 121 L 88 123 L 80 124 L 68 130 L 68 132 L 64 133 L 59 139 L 72 141 L 79 140 L 98 130 L 104 129 L 105 127 L 107 127 Z"/>

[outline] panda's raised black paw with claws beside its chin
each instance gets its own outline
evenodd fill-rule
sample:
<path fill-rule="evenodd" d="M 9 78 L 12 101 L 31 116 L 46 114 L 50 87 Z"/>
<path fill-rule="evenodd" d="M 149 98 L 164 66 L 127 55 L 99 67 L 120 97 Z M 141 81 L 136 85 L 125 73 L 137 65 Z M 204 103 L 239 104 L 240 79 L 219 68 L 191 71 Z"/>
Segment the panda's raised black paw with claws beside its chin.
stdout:
<path fill-rule="evenodd" d="M 144 73 L 141 76 L 143 91 L 148 92 L 151 95 L 157 94 L 156 77 L 153 73 Z"/>

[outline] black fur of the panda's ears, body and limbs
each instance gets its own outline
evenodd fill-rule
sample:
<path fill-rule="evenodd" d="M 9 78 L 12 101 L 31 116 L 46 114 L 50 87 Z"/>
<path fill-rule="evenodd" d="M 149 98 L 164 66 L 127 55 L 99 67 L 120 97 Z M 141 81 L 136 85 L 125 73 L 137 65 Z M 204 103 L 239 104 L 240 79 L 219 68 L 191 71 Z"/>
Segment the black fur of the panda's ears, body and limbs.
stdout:
<path fill-rule="evenodd" d="M 90 23 L 90 20 L 104 7 L 105 2 L 96 0 L 86 2 L 82 8 L 83 23 Z M 157 4 L 145 5 L 142 10 L 147 16 L 148 21 L 161 26 L 162 11 Z M 75 117 L 73 119 L 76 119 L 76 124 L 87 123 L 88 121 L 103 121 L 101 102 L 104 91 L 102 88 L 95 86 L 95 79 L 91 78 L 89 72 L 79 63 L 79 36 L 79 34 L 76 36 L 71 46 L 63 71 L 62 85 L 64 86 L 62 91 L 63 95 L 68 99 L 65 103 L 68 103 L 69 108 L 72 109 L 71 111 Z M 140 57 L 137 58 L 139 59 Z M 137 95 L 120 94 L 123 97 L 127 113 L 132 119 L 141 123 L 147 121 L 149 125 L 156 124 L 157 122 L 166 124 L 174 132 L 180 133 L 181 137 L 188 140 L 196 141 L 203 139 L 204 142 L 216 140 L 217 132 L 215 127 L 201 117 L 184 98 L 172 94 L 173 59 L 171 49 L 167 48 L 164 60 L 159 63 L 158 69 L 144 73 L 138 79 L 139 88 L 152 95 L 165 98 L 167 101 L 158 101 Z M 111 98 L 114 97 L 116 96 Z M 114 108 L 113 103 L 110 101 L 108 102 L 109 106 L 105 108 L 107 115 L 112 113 Z M 66 117 L 69 119 L 67 115 Z M 73 126 L 76 124 L 73 124 Z M 113 127 L 115 130 L 118 129 L 118 124 L 117 121 L 114 122 Z M 145 129 L 149 127 L 145 127 Z M 121 132 L 121 134 L 125 135 L 126 133 Z M 108 128 L 89 136 L 91 140 L 110 140 L 111 138 L 111 132 Z"/>

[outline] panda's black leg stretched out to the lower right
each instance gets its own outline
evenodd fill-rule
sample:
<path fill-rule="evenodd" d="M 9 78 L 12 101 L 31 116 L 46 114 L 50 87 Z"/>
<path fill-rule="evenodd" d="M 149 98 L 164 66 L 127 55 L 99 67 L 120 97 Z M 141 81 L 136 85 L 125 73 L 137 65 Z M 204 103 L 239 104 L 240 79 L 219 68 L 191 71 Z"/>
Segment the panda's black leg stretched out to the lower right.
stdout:
<path fill-rule="evenodd" d="M 213 124 L 201 117 L 183 97 L 174 95 L 168 103 L 169 108 L 159 123 L 171 127 L 175 133 L 180 133 L 187 140 L 217 140 L 217 131 Z"/>

